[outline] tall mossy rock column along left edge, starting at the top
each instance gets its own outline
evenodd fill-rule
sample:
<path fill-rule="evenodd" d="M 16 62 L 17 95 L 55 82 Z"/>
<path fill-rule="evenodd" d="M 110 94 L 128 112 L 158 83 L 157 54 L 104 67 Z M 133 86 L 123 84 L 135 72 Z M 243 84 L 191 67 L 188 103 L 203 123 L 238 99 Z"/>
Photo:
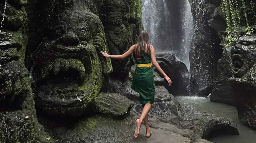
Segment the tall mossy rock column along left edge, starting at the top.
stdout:
<path fill-rule="evenodd" d="M 6 5 L 2 2 L 1 16 L 5 17 L 0 28 L 0 111 L 5 111 L 18 108 L 31 94 L 31 87 L 24 64 L 27 13 L 24 7 L 15 8 L 9 1 Z"/>

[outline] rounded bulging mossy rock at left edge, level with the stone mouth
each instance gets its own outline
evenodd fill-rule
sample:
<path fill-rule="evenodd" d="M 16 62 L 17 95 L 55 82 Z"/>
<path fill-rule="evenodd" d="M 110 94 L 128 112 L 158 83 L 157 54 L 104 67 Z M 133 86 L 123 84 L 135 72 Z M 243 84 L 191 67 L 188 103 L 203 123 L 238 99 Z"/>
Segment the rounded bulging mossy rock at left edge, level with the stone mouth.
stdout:
<path fill-rule="evenodd" d="M 0 111 L 20 106 L 31 93 L 28 70 L 20 60 L 0 64 Z"/>

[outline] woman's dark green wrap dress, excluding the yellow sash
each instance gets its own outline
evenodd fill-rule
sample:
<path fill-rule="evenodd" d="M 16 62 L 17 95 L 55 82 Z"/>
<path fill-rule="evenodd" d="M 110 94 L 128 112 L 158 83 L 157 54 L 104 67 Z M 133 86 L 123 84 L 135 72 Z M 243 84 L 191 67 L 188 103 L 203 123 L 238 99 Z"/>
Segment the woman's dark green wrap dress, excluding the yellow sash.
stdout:
<path fill-rule="evenodd" d="M 141 50 L 141 55 L 143 58 L 137 59 L 136 64 L 151 63 L 150 55 L 143 50 Z M 139 102 L 142 105 L 153 104 L 155 101 L 155 82 L 152 67 L 136 67 L 131 88 L 139 93 Z"/>

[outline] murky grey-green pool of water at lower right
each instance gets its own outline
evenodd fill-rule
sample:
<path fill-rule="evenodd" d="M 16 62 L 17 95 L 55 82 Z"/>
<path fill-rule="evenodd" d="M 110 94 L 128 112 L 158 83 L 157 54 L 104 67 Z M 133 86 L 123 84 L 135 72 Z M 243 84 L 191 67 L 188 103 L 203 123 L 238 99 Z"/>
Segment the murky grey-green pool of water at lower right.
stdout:
<path fill-rule="evenodd" d="M 196 110 L 231 118 L 237 125 L 240 135 L 219 135 L 207 140 L 213 143 L 256 143 L 256 131 L 243 125 L 238 119 L 236 107 L 224 103 L 211 102 L 209 98 L 180 96 L 176 99 L 182 104 Z"/>

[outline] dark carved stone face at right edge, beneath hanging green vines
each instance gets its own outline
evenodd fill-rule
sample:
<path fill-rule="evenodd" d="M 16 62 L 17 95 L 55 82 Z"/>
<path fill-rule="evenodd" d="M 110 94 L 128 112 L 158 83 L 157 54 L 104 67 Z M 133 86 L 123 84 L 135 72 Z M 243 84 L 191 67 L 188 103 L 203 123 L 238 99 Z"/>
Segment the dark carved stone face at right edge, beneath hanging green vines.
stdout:
<path fill-rule="evenodd" d="M 240 37 L 231 51 L 231 90 L 242 123 L 256 129 L 256 37 Z"/>

